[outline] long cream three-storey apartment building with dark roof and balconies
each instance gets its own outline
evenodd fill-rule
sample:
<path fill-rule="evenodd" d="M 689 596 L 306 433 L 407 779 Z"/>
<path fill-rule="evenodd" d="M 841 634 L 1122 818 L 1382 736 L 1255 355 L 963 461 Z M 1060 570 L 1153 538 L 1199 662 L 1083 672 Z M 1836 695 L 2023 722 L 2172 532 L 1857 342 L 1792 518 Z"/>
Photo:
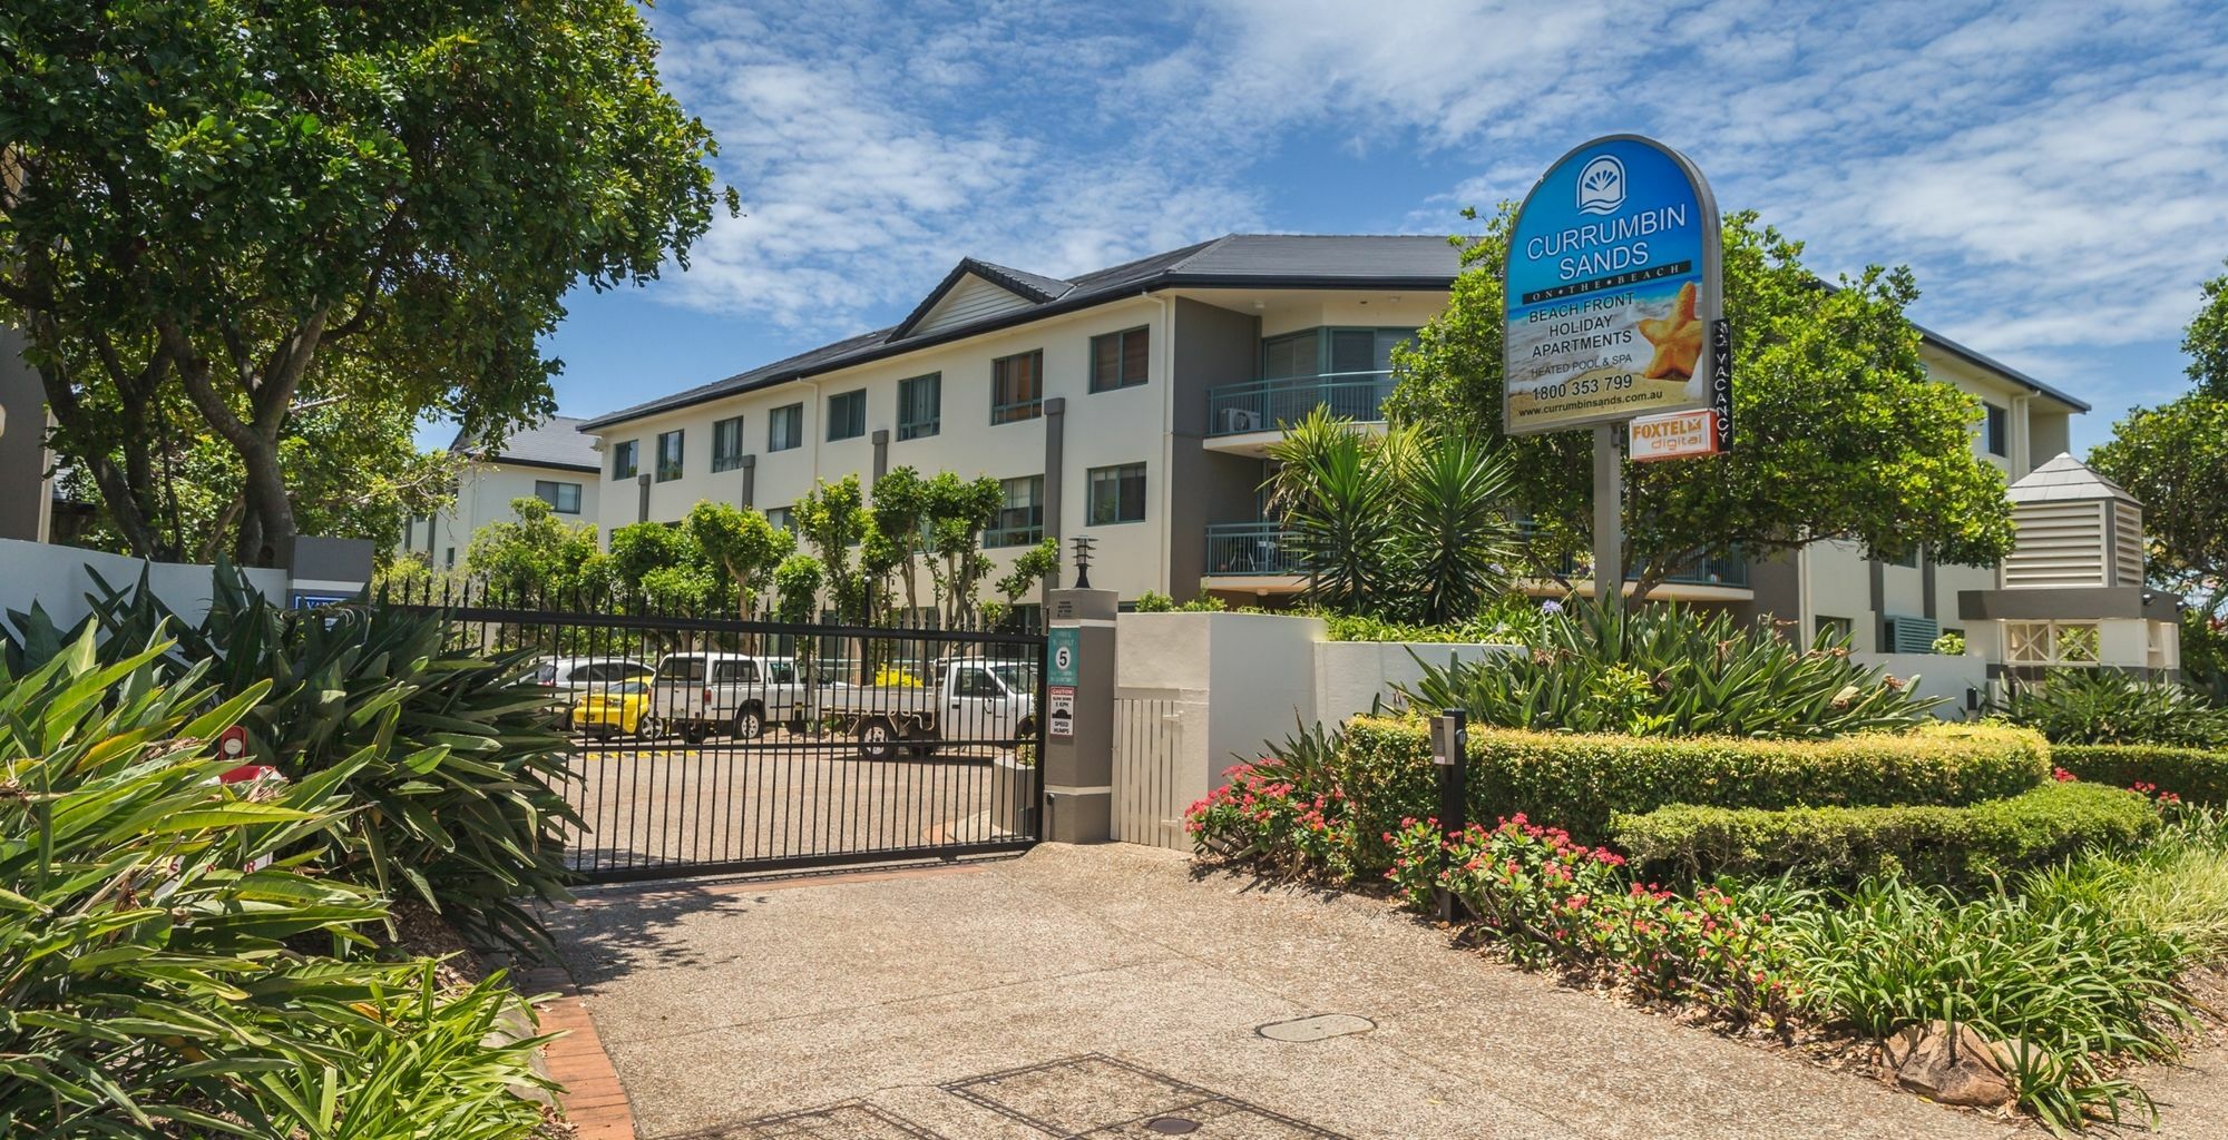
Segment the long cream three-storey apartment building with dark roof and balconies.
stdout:
<path fill-rule="evenodd" d="M 985 537 L 1000 572 L 1040 537 L 1089 534 L 1092 586 L 1125 599 L 1274 603 L 1301 586 L 1259 492 L 1277 423 L 1315 405 L 1379 421 L 1393 345 L 1457 272 L 1459 252 L 1424 236 L 1232 234 L 1076 278 L 967 258 L 898 325 L 586 421 L 606 483 L 590 517 L 608 534 L 720 499 L 780 521 L 818 479 L 989 474 L 1007 492 Z M 1972 448 L 2014 483 L 2090 410 L 1934 332 L 1921 354 L 1978 396 Z M 1996 568 L 1820 541 L 1684 568 L 1658 597 L 1838 626 L 1860 652 L 1958 630 L 2001 655 L 2007 635 L 1961 606 L 2003 586 Z"/>

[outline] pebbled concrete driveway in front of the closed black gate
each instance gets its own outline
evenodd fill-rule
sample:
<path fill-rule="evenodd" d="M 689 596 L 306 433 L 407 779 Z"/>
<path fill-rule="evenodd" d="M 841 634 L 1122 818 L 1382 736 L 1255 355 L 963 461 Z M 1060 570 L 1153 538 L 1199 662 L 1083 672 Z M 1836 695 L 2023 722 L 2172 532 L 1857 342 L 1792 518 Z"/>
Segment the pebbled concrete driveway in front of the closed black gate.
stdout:
<path fill-rule="evenodd" d="M 1139 846 L 613 891 L 555 926 L 644 1138 L 2014 1131 Z"/>

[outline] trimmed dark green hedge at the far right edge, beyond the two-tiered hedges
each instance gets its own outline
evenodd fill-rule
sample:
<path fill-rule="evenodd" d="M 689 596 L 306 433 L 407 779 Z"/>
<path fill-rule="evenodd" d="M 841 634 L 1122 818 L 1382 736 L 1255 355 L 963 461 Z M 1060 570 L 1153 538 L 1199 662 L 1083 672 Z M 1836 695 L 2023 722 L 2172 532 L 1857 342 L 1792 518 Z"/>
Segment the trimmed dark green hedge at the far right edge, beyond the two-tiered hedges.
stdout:
<path fill-rule="evenodd" d="M 2014 688 L 2005 712 L 2050 744 L 2228 748 L 2228 708 L 2181 684 L 2110 668 L 2052 670 L 2041 686 Z"/>

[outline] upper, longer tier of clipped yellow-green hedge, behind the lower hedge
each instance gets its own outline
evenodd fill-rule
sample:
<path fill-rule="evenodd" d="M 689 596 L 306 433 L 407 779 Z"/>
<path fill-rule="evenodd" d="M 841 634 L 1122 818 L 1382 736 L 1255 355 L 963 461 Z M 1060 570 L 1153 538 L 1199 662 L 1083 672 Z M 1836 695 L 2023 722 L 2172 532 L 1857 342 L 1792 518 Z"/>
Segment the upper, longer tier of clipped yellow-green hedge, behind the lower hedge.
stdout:
<path fill-rule="evenodd" d="M 1346 795 L 1366 813 L 1364 842 L 1437 806 L 1430 728 L 1421 719 L 1355 717 L 1339 768 Z M 1956 806 L 2019 795 L 2048 779 L 2043 737 L 1996 724 L 1929 724 L 1823 741 L 1473 728 L 1468 799 L 1473 822 L 1524 813 L 1582 844 L 1600 844 L 1609 839 L 1611 815 L 1667 804 Z"/>

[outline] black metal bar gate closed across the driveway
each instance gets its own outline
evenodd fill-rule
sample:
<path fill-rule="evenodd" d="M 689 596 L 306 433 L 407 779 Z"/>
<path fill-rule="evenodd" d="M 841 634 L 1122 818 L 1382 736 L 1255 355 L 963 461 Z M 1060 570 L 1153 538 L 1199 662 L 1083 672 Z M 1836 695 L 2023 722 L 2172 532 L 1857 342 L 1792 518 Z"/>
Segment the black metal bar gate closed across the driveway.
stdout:
<path fill-rule="evenodd" d="M 421 586 L 481 652 L 528 652 L 573 750 L 568 862 L 651 879 L 1023 851 L 1043 817 L 1045 637 L 842 626 L 622 597 Z"/>

